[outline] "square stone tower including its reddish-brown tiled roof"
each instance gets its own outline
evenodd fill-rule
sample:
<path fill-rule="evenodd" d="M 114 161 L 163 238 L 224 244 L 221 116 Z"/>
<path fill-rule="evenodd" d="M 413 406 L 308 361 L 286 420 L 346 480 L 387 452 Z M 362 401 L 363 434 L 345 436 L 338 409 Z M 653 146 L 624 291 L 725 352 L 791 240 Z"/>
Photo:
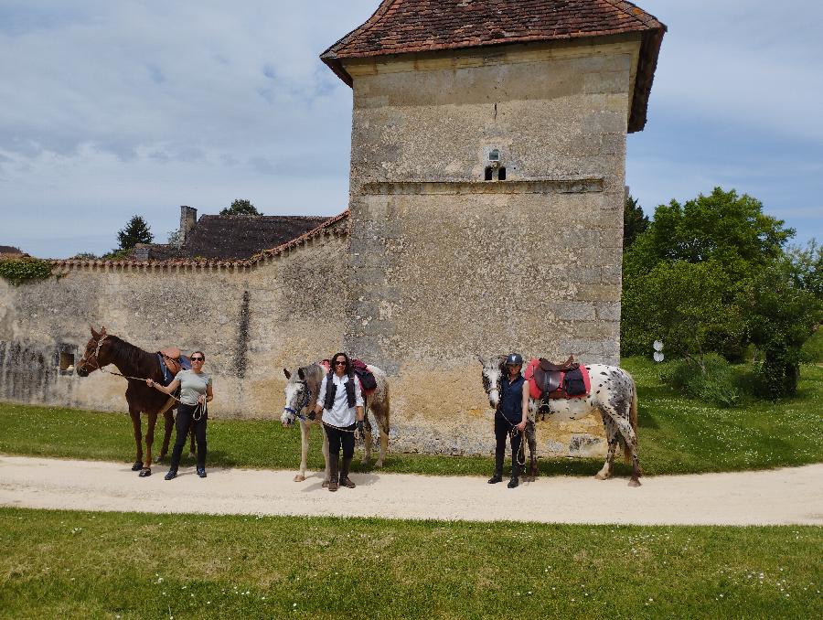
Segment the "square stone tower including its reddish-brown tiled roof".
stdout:
<path fill-rule="evenodd" d="M 354 93 L 347 348 L 403 417 L 482 407 L 478 354 L 618 362 L 665 31 L 620 0 L 384 0 L 323 53 Z"/>

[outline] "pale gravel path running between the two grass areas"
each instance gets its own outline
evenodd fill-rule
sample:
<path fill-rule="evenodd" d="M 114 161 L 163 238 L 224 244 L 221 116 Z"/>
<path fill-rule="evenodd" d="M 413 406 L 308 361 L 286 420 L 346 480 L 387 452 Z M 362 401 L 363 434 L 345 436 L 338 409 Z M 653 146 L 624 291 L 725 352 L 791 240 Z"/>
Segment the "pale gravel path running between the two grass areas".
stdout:
<path fill-rule="evenodd" d="M 164 469 L 139 478 L 129 465 L 0 455 L 0 506 L 141 512 L 339 515 L 638 525 L 823 525 L 823 464 L 770 471 L 642 478 L 542 477 L 508 489 L 466 476 L 354 474 L 329 493 L 320 474 Z"/>

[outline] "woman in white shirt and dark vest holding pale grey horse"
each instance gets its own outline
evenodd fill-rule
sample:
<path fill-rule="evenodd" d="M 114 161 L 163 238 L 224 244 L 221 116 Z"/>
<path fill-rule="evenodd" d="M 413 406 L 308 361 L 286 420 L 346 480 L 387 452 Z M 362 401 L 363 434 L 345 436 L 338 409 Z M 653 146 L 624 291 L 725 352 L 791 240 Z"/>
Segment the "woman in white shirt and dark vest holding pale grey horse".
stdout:
<path fill-rule="evenodd" d="M 323 427 L 328 437 L 328 490 L 337 491 L 338 485 L 354 488 L 355 484 L 348 478 L 348 468 L 354 456 L 355 430 L 363 433 L 363 393 L 360 382 L 355 378 L 348 356 L 337 353 L 331 358 L 332 369 L 320 383 L 317 394 L 315 414 L 323 412 Z M 343 448 L 343 462 L 337 467 L 340 448 Z"/>

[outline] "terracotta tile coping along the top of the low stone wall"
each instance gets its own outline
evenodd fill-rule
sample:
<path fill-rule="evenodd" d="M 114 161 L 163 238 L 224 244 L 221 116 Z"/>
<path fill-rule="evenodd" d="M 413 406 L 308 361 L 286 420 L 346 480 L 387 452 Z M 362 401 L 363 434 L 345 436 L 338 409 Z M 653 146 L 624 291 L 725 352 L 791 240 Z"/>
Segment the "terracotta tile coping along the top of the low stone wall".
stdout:
<path fill-rule="evenodd" d="M 203 216 L 206 218 L 208 216 Z M 215 216 L 219 217 L 219 216 Z M 266 216 L 263 216 L 266 217 Z M 276 216 L 268 216 L 276 217 Z M 203 219 L 201 218 L 201 219 Z M 347 233 L 347 224 L 349 219 L 349 211 L 345 210 L 333 218 L 304 218 L 316 219 L 320 221 L 319 226 L 315 226 L 311 230 L 305 231 L 296 238 L 291 238 L 288 241 L 282 241 L 279 245 L 264 251 L 258 251 L 252 256 L 247 256 L 243 259 L 222 259 L 222 258 L 208 258 L 199 257 L 197 259 L 188 257 L 176 257 L 165 261 L 103 261 L 97 260 L 53 260 L 51 263 L 54 267 L 62 270 L 78 269 L 84 267 L 110 267 L 120 269 L 167 269 L 167 268 L 218 268 L 218 269 L 248 269 L 254 268 L 262 262 L 269 261 L 276 256 L 280 256 L 287 251 L 294 250 L 307 241 L 316 239 L 324 234 L 342 234 Z M 305 229 L 303 229 L 305 230 Z"/>

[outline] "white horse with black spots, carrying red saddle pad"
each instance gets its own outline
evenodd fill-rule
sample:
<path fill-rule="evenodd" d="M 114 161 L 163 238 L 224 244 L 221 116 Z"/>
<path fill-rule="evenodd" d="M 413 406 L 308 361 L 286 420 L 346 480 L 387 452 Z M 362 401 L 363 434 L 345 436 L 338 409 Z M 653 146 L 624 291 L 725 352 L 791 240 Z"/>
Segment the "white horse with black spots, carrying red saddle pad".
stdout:
<path fill-rule="evenodd" d="M 488 395 L 488 403 L 497 408 L 500 400 L 500 380 L 506 374 L 506 356 L 494 358 L 480 358 L 483 365 L 483 388 Z M 615 450 L 618 444 L 623 444 L 626 463 L 632 464 L 632 476 L 629 486 L 640 486 L 640 476 L 643 470 L 637 457 L 637 390 L 635 379 L 624 369 L 604 364 L 586 364 L 589 371 L 592 389 L 579 398 L 550 399 L 550 413 L 557 419 L 580 420 L 581 418 L 599 412 L 608 438 L 608 454 L 603 468 L 594 476 L 605 480 L 612 476 L 612 465 L 615 462 Z M 529 423 L 527 424 L 527 441 L 531 453 L 532 464 L 536 463 L 537 440 L 534 435 L 534 415 L 538 411 L 540 401 L 529 398 Z M 532 428 L 531 437 L 528 429 Z M 536 470 L 536 466 L 534 467 Z"/>

